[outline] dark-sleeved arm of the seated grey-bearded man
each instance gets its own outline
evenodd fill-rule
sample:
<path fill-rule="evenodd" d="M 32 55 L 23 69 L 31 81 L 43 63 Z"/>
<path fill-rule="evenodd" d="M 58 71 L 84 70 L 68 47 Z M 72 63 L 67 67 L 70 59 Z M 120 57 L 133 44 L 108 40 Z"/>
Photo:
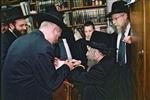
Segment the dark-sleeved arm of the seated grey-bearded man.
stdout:
<path fill-rule="evenodd" d="M 109 73 L 111 66 L 111 63 L 100 63 L 93 66 L 89 72 L 81 67 L 77 67 L 71 72 L 69 78 L 73 83 L 77 82 L 86 85 L 102 84 L 105 76 Z"/>

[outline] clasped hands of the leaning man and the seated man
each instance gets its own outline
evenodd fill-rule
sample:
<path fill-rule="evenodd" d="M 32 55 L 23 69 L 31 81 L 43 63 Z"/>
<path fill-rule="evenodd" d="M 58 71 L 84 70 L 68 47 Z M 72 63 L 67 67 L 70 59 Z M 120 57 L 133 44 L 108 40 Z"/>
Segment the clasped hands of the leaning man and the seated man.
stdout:
<path fill-rule="evenodd" d="M 76 67 L 83 67 L 83 65 L 81 65 L 81 61 L 80 60 L 76 60 L 76 59 L 71 59 L 71 60 L 65 60 L 65 61 L 62 61 L 58 58 L 55 58 L 54 59 L 54 66 L 55 66 L 55 69 L 57 70 L 58 68 L 60 68 L 63 64 L 66 64 L 68 65 L 68 67 L 70 68 L 70 70 L 73 70 L 74 68 Z"/>

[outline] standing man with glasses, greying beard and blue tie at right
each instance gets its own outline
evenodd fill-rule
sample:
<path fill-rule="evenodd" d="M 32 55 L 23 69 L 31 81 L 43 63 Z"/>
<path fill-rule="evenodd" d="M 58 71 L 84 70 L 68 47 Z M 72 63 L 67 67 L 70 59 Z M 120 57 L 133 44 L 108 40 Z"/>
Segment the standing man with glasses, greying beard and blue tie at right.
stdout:
<path fill-rule="evenodd" d="M 114 48 L 114 58 L 116 58 L 117 84 L 116 100 L 133 99 L 132 80 L 132 52 L 133 36 L 131 33 L 129 8 L 125 1 L 116 1 L 112 4 L 109 16 L 116 27 L 116 32 L 112 34 L 110 44 Z"/>

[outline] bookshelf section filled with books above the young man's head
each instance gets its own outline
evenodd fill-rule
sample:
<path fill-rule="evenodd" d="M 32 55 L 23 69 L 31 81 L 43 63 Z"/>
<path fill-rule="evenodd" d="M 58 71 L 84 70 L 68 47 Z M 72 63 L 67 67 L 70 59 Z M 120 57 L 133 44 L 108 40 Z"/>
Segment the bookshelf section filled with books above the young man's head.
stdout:
<path fill-rule="evenodd" d="M 91 20 L 95 26 L 106 29 L 106 0 L 67 0 L 65 9 L 57 10 L 64 13 L 64 22 L 73 29 L 83 26 Z M 67 8 L 68 7 L 68 8 Z M 106 31 L 106 30 L 105 30 Z"/>

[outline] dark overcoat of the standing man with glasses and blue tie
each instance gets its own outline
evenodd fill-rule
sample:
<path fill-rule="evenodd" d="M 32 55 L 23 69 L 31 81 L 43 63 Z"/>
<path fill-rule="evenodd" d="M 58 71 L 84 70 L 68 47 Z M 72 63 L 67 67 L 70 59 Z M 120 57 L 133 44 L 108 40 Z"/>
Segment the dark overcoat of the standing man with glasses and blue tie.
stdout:
<path fill-rule="evenodd" d="M 129 35 L 130 35 L 129 31 Z M 116 61 L 117 55 L 117 33 L 113 33 L 110 35 L 110 45 L 114 49 L 113 57 Z M 118 62 L 115 63 L 116 66 L 116 84 L 114 85 L 115 90 L 115 98 L 117 100 L 133 100 L 133 72 L 132 72 L 132 44 L 126 44 L 126 56 L 127 63 L 125 65 L 120 66 Z"/>

